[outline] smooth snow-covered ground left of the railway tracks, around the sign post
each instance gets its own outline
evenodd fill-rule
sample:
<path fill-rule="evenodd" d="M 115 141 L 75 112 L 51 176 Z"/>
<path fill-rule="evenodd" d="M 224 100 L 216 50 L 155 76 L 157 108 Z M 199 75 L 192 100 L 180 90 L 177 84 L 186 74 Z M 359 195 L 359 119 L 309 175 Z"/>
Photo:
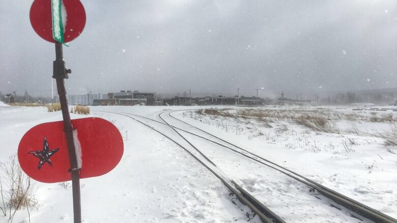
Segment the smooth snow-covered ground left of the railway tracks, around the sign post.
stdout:
<path fill-rule="evenodd" d="M 140 114 L 154 114 L 163 109 L 130 108 Z M 230 202 L 233 197 L 228 189 L 165 137 L 121 115 L 92 111 L 89 116 L 113 122 L 125 141 L 123 158 L 114 170 L 104 176 L 80 180 L 83 222 L 246 222 L 248 219 L 245 214 L 249 209 Z M 72 119 L 89 116 L 71 114 Z M 47 112 L 46 108 L 0 105 L 0 162 L 6 163 L 17 152 L 19 140 L 27 130 L 39 123 L 61 119 L 61 112 Z M 64 185 L 34 183 L 39 206 L 30 210 L 31 222 L 73 221 L 71 185 L 67 188 Z M 6 219 L 8 216 L 0 216 L 0 221 Z M 19 210 L 13 222 L 28 220 L 27 211 Z"/>

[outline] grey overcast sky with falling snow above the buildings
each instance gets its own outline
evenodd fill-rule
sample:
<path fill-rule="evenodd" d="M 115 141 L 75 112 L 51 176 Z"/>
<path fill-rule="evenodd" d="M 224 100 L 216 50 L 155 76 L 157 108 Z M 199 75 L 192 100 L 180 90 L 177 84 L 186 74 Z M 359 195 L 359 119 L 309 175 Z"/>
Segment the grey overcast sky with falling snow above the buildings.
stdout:
<path fill-rule="evenodd" d="M 33 30 L 32 2 L 0 0 L 3 93 L 51 95 L 54 46 Z M 70 94 L 397 87 L 395 0 L 81 2 L 86 27 L 64 47 Z"/>

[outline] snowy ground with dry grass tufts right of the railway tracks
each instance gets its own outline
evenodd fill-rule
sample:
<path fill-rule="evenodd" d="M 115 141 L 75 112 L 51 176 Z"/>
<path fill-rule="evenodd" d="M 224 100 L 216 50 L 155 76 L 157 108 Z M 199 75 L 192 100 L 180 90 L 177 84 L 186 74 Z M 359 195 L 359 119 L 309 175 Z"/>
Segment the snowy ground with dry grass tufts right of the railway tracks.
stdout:
<path fill-rule="evenodd" d="M 237 114 L 237 111 L 247 108 L 227 109 L 231 110 L 224 112 Z M 394 188 L 397 185 L 397 154 L 387 151 L 387 148 L 396 153 L 397 148 L 392 145 L 386 147 L 383 138 L 374 136 L 395 128 L 395 112 L 352 111 L 352 107 L 317 109 L 325 112 L 334 131 L 313 131 L 293 121 L 276 118 L 269 121 L 271 118 L 267 117 L 263 117 L 267 121 L 260 121 L 254 117 L 243 119 L 193 111 L 174 114 L 198 128 L 396 218 L 397 191 Z M 271 110 L 275 114 L 292 110 L 289 114 L 292 116 L 316 113 L 315 107 L 301 106 L 268 106 L 258 110 Z M 335 118 L 335 114 L 340 118 Z M 356 117 L 351 118 L 352 115 Z M 390 116 L 394 119 L 391 122 L 366 121 Z M 346 117 L 349 117 L 348 120 Z M 356 131 L 353 131 L 353 126 L 356 126 Z M 249 176 L 247 178 L 249 180 Z M 254 182 L 248 189 L 255 192 L 264 189 L 264 185 Z"/>

